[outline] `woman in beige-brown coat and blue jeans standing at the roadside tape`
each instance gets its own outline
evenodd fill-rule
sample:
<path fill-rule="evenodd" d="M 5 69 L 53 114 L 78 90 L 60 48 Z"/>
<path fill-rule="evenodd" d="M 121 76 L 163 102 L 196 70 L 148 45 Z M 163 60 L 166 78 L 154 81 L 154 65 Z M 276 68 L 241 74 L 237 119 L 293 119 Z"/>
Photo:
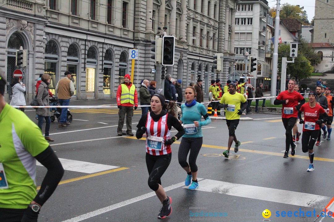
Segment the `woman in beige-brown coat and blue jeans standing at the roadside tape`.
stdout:
<path fill-rule="evenodd" d="M 43 74 L 41 77 L 41 84 L 37 90 L 37 102 L 38 106 L 49 106 L 49 83 L 50 83 L 50 75 Z M 37 108 L 36 114 L 38 115 L 38 127 L 42 130 L 43 119 L 45 119 L 45 139 L 49 142 L 53 142 L 54 140 L 49 137 L 49 129 L 51 124 L 50 119 L 50 109 L 49 108 Z"/>

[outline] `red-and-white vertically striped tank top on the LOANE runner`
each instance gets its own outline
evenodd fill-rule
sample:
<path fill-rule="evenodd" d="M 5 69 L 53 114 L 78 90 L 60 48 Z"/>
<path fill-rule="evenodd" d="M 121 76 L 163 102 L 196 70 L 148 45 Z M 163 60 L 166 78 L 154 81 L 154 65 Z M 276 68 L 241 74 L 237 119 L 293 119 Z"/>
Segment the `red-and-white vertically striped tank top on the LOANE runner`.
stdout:
<path fill-rule="evenodd" d="M 167 126 L 167 114 L 160 117 L 159 121 L 153 121 L 150 113 L 147 113 L 146 121 L 146 152 L 158 156 L 164 155 L 172 152 L 170 145 L 165 145 L 165 141 L 170 138 L 170 130 Z M 149 136 L 162 137 L 162 147 L 161 150 L 152 149 L 148 146 L 147 140 Z"/>

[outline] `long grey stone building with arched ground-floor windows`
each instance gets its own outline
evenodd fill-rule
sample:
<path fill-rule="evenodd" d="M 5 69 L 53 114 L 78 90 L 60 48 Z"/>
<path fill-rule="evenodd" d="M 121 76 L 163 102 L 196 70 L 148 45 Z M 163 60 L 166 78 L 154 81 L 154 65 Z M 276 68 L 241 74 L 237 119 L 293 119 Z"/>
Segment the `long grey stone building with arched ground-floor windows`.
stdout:
<path fill-rule="evenodd" d="M 27 101 L 40 74 L 50 74 L 54 93 L 67 70 L 73 73 L 73 99 L 115 98 L 124 75 L 131 73 L 131 49 L 139 51 L 134 84 L 160 80 L 151 40 L 166 26 L 167 35 L 176 37 L 175 62 L 167 73 L 182 79 L 184 88 L 202 79 L 207 92 L 211 79 L 226 81 L 234 72 L 235 61 L 229 59 L 221 72 L 212 69 L 215 53 L 234 54 L 234 6 L 234 0 L 7 1 L 0 7 L 0 68 L 10 82 L 22 46 L 28 51 L 22 68 Z M 9 87 L 7 93 L 10 99 Z"/>

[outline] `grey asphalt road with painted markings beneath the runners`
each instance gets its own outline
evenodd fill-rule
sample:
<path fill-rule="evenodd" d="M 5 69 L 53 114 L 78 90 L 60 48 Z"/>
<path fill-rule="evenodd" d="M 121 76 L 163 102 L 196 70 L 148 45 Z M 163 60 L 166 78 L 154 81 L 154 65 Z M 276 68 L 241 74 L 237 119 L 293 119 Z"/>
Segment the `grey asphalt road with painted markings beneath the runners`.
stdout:
<path fill-rule="evenodd" d="M 25 113 L 34 119 L 34 111 Z M 147 185 L 145 140 L 117 136 L 117 109 L 71 113 L 70 126 L 59 128 L 57 120 L 51 123 L 50 137 L 55 140 L 51 147 L 62 158 L 65 174 L 42 207 L 39 221 L 159 221 L 161 203 Z M 140 116 L 138 109 L 133 116 L 134 133 Z M 301 139 L 296 155 L 283 158 L 285 130 L 280 115 L 247 117 L 254 120 L 240 121 L 236 136 L 242 145 L 234 153 L 233 144 L 228 159 L 222 155 L 228 139 L 225 120 L 212 120 L 203 127 L 197 190 L 184 186 L 186 173 L 177 160 L 180 140 L 172 145 L 172 161 L 161 180 L 172 197 L 173 212 L 164 221 L 258 222 L 263 221 L 265 209 L 271 211 L 271 221 L 314 221 L 314 215 L 324 209 L 334 196 L 332 141 L 315 146 L 315 170 L 307 172 L 309 160 L 301 151 Z M 37 185 L 45 172 L 43 166 L 37 167 Z M 212 216 L 201 216 L 202 211 Z M 292 216 L 282 217 L 282 211 L 292 211 Z"/>

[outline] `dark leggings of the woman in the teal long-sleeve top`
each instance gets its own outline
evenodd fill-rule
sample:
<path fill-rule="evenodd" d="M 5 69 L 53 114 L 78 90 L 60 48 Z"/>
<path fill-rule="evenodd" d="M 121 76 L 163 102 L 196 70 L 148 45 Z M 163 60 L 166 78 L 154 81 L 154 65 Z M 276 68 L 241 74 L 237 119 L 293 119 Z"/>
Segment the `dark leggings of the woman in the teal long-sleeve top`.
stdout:
<path fill-rule="evenodd" d="M 191 172 L 197 172 L 196 159 L 199 153 L 199 150 L 202 147 L 203 137 L 195 137 L 195 138 L 186 138 L 182 137 L 181 143 L 179 146 L 179 163 L 184 167 L 190 166 Z M 187 156 L 189 154 L 189 164 L 187 163 Z"/>

